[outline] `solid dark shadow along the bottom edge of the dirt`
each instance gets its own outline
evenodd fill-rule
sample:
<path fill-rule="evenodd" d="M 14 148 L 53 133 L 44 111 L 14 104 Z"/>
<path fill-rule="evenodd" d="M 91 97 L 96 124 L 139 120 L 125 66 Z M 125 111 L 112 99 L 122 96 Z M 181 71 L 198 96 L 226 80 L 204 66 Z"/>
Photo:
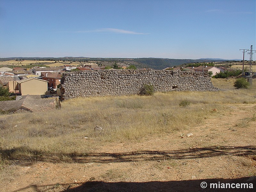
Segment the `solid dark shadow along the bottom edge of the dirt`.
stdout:
<path fill-rule="evenodd" d="M 207 187 L 202 188 L 201 183 L 206 182 Z M 228 183 L 228 184 L 227 184 Z M 243 183 L 243 184 L 242 184 Z M 205 184 L 205 183 L 204 183 Z M 203 186 L 205 186 L 202 184 Z M 238 186 L 239 188 L 236 188 Z M 253 187 L 253 188 L 252 188 Z M 182 180 L 182 181 L 149 181 L 149 182 L 103 182 L 87 181 L 84 183 L 55 184 L 52 186 L 31 185 L 15 191 L 35 191 L 50 192 L 243 192 L 255 191 L 256 176 L 236 179 L 204 179 L 204 180 Z M 47 189 L 42 189 L 47 188 Z M 13 191 L 14 192 L 14 191 Z"/>

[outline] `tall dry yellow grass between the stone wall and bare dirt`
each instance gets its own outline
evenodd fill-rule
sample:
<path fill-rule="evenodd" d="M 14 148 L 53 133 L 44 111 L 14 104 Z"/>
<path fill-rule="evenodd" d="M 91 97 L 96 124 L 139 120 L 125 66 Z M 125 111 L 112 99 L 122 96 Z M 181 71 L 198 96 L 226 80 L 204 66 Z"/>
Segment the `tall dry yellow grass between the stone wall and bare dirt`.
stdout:
<path fill-rule="evenodd" d="M 215 116 L 212 109 L 223 103 L 256 103 L 255 89 L 237 90 L 232 82 L 213 81 L 220 88 L 227 86 L 228 91 L 76 98 L 62 102 L 60 110 L 1 115 L 0 162 L 2 166 L 42 160 L 70 162 L 103 142 L 191 129 Z M 190 105 L 179 106 L 181 100 Z M 96 125 L 104 130 L 95 132 Z"/>

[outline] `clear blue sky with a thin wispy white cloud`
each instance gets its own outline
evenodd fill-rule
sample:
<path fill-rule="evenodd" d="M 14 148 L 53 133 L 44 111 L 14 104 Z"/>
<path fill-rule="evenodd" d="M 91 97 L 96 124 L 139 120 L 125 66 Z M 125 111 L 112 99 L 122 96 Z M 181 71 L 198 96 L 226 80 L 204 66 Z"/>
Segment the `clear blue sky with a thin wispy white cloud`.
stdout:
<path fill-rule="evenodd" d="M 255 10 L 255 0 L 0 0 L 0 57 L 242 59 L 239 49 L 256 50 Z"/>

